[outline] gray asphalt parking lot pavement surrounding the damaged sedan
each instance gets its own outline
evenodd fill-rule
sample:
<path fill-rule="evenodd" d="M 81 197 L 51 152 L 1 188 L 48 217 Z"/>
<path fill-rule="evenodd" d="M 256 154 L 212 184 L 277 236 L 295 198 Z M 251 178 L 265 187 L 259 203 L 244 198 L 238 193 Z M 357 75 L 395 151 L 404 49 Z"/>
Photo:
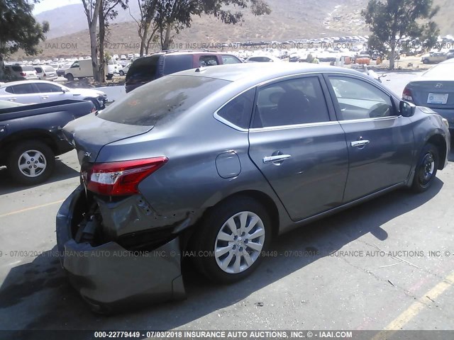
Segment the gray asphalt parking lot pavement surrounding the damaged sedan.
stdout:
<path fill-rule="evenodd" d="M 415 75 L 384 84 L 399 94 Z M 240 283 L 207 283 L 188 264 L 187 300 L 109 317 L 89 311 L 55 256 L 55 215 L 78 171 L 74 151 L 32 188 L 0 169 L 0 329 L 454 329 L 452 164 L 426 193 L 389 193 L 282 235 Z"/>

